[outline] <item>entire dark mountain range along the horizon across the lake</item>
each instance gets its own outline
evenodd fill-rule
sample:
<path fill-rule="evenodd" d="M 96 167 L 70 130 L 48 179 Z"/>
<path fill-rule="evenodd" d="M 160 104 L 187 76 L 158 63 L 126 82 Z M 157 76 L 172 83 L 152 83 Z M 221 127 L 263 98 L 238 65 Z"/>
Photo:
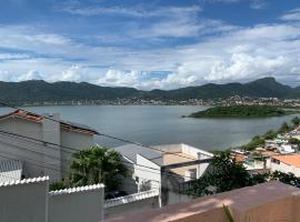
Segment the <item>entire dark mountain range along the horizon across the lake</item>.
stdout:
<path fill-rule="evenodd" d="M 177 90 L 141 91 L 134 88 L 100 87 L 87 82 L 53 82 L 31 80 L 23 82 L 0 82 L 0 99 L 12 103 L 79 101 L 79 100 L 114 100 L 114 99 L 214 99 L 232 95 L 252 98 L 300 98 L 300 87 L 291 88 L 263 78 L 249 83 L 204 84 Z"/>

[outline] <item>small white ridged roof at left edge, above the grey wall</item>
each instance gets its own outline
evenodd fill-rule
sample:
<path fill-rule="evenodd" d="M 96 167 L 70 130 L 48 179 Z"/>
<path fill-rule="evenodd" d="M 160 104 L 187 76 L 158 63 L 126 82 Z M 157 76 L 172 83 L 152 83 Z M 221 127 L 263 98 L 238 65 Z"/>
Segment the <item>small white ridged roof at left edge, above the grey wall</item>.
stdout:
<path fill-rule="evenodd" d="M 0 161 L 0 183 L 21 180 L 22 162 L 18 160 Z"/>

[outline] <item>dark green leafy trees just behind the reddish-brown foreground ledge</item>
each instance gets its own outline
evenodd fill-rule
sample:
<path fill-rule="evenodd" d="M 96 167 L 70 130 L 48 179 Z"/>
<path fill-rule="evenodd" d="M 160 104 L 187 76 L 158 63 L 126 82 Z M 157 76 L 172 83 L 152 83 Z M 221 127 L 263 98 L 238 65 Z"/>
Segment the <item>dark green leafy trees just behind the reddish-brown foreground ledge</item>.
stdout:
<path fill-rule="evenodd" d="M 218 151 L 214 153 L 211 169 L 194 181 L 193 186 L 187 191 L 187 194 L 193 196 L 210 195 L 256 185 L 269 180 L 278 180 L 290 185 L 300 186 L 300 178 L 297 178 L 293 173 L 274 171 L 272 173 L 251 174 L 242 163 L 231 159 L 229 151 Z"/>

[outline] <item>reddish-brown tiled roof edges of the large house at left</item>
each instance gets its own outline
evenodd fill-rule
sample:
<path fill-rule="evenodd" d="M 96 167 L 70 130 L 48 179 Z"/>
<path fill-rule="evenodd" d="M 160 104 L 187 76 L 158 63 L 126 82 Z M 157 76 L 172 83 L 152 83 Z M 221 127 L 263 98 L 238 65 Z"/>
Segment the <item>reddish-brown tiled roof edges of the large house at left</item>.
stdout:
<path fill-rule="evenodd" d="M 41 122 L 43 120 L 43 115 L 36 114 L 32 112 L 27 112 L 23 110 L 16 110 L 8 114 L 0 115 L 0 120 L 4 120 L 11 117 L 21 118 L 21 119 L 26 119 L 26 120 L 30 120 L 34 122 Z M 79 123 L 69 122 L 69 121 L 59 121 L 59 122 L 62 128 L 68 129 L 68 130 L 73 130 L 73 131 L 78 131 L 82 133 L 98 134 L 97 130 L 93 130 L 92 128 L 84 124 L 79 124 Z"/>

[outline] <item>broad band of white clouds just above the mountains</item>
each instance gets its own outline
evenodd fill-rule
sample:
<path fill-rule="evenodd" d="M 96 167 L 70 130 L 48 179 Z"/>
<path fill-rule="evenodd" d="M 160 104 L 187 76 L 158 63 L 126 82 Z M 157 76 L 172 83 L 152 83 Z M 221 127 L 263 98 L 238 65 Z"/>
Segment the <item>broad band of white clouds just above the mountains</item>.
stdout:
<path fill-rule="evenodd" d="M 30 57 L 22 52 L 1 53 L 0 80 L 42 78 L 47 81 L 173 89 L 273 75 L 283 82 L 300 84 L 297 82 L 300 81 L 300 26 L 294 20 L 242 28 L 222 21 L 199 21 L 184 14 L 178 21 L 166 19 L 143 29 L 132 28 L 128 33 L 136 33 L 144 41 L 193 36 L 200 40 L 151 49 L 91 47 L 33 28 L 0 27 L 0 47 L 31 52 Z M 208 33 L 212 33 L 210 38 L 201 38 Z M 82 61 L 76 62 L 78 57 Z M 30 70 L 37 72 L 29 74 Z M 152 74 L 161 70 L 169 72 L 161 77 Z"/>

